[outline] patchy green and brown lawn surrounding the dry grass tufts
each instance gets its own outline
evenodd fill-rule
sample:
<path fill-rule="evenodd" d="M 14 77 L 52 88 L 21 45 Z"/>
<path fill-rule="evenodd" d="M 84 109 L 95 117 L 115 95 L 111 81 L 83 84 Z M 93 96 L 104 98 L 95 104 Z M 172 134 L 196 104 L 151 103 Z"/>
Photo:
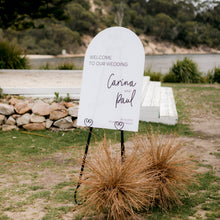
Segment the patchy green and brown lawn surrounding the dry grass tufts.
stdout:
<path fill-rule="evenodd" d="M 173 87 L 178 124 L 167 126 L 140 122 L 139 134 L 144 134 L 152 126 L 162 134 L 176 133 L 179 138 L 188 140 L 186 149 L 203 172 L 196 177 L 198 185 L 191 185 L 190 194 L 183 197 L 183 206 L 174 207 L 168 212 L 157 208 L 148 212 L 143 210 L 139 215 L 143 219 L 220 218 L 220 178 L 216 176 L 211 162 L 194 158 L 194 153 L 200 151 L 194 141 L 203 140 L 208 143 L 207 149 L 209 143 L 215 144 L 215 150 L 209 149 L 207 156 L 216 158 L 215 162 L 219 163 L 219 136 L 208 135 L 206 128 L 201 128 L 201 131 L 193 128 L 195 123 L 203 119 L 219 120 L 220 86 L 163 86 Z M 120 149 L 120 132 L 94 129 L 89 156 L 96 150 L 104 133 L 112 144 L 118 143 Z M 87 135 L 88 129 L 65 133 L 0 131 L 0 219 L 82 219 L 73 211 L 73 195 L 80 169 L 79 158 L 84 152 Z M 125 132 L 125 140 L 132 141 L 133 135 L 133 132 Z M 197 151 L 191 150 L 193 146 Z"/>

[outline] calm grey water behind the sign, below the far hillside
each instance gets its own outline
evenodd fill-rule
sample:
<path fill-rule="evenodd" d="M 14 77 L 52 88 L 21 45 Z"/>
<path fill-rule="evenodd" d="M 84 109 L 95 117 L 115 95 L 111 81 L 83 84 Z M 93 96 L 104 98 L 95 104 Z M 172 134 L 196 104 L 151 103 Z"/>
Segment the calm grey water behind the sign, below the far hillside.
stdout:
<path fill-rule="evenodd" d="M 184 55 L 148 55 L 145 59 L 145 70 L 150 68 L 151 71 L 161 72 L 165 74 L 169 71 L 170 67 L 178 59 L 182 60 L 184 57 L 188 57 L 197 63 L 199 70 L 203 73 L 207 73 L 214 67 L 220 68 L 220 54 L 184 54 Z M 71 57 L 71 58 L 47 58 L 47 59 L 31 59 L 32 69 L 39 69 L 41 66 L 45 66 L 47 63 L 49 66 L 57 66 L 59 63 L 74 63 L 77 67 L 83 66 L 83 57 Z"/>

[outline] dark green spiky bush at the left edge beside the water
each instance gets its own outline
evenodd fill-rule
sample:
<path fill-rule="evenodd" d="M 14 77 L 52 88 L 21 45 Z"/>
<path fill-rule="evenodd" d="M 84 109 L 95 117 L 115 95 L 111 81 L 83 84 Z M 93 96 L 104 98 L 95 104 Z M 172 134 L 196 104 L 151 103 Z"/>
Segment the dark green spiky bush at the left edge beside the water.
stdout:
<path fill-rule="evenodd" d="M 0 69 L 27 69 L 28 60 L 15 44 L 0 42 Z"/>

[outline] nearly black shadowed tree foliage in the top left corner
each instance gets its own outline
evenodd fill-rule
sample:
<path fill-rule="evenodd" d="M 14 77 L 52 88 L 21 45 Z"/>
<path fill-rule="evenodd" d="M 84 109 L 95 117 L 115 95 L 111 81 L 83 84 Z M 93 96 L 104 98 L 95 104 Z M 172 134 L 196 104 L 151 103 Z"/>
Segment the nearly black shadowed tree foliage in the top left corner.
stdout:
<path fill-rule="evenodd" d="M 65 20 L 64 6 L 71 0 L 0 0 L 0 28 L 35 27 L 33 19 L 54 17 Z"/>

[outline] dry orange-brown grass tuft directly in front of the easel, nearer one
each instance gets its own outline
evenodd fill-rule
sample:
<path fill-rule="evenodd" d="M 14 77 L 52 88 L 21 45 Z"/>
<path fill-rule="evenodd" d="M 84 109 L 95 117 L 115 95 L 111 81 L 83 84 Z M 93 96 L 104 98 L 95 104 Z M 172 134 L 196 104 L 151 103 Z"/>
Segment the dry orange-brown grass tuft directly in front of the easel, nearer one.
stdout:
<path fill-rule="evenodd" d="M 104 139 L 99 152 L 86 164 L 88 172 L 81 191 L 86 201 L 81 211 L 107 212 L 107 219 L 123 220 L 134 217 L 134 210 L 149 207 L 154 182 L 151 171 L 143 172 L 142 164 L 138 148 L 122 163 L 120 154 L 110 152 Z"/>

